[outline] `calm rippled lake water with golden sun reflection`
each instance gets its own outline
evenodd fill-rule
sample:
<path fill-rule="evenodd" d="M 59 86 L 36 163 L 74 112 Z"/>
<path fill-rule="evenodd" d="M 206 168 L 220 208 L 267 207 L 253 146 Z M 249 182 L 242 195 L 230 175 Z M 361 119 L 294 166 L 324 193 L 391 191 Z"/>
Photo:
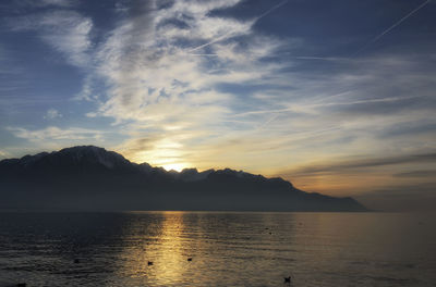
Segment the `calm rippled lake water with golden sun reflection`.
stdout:
<path fill-rule="evenodd" d="M 3 212 L 0 282 L 289 286 L 291 275 L 305 287 L 436 286 L 433 215 Z"/>

